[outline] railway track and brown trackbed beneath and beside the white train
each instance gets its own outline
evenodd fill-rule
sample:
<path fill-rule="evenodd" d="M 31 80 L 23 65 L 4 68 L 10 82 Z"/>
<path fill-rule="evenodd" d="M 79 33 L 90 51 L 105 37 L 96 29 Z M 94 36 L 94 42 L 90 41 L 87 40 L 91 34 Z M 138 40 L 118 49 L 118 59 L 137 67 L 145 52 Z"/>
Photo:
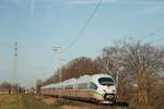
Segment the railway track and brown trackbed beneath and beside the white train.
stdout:
<path fill-rule="evenodd" d="M 50 96 L 50 95 L 46 95 L 44 96 L 45 98 L 55 98 L 58 99 L 58 104 L 55 104 L 55 106 L 60 106 L 63 104 L 72 104 L 75 106 L 80 106 L 80 107 L 85 107 L 89 109 L 129 109 L 129 104 L 128 102 L 117 102 L 114 105 L 103 105 L 103 104 L 95 104 L 94 101 L 87 101 L 87 100 L 83 100 L 83 99 L 72 99 L 72 98 L 68 98 L 68 97 L 59 97 L 59 96 Z"/>

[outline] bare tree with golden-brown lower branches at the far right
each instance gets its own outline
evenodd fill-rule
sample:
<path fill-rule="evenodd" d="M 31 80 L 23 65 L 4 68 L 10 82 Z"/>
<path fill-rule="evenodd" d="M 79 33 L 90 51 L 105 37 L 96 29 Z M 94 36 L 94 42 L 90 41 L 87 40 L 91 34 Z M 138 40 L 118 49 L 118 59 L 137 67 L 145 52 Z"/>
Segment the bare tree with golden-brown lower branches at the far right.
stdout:
<path fill-rule="evenodd" d="M 155 88 L 159 73 L 163 72 L 163 50 L 150 45 L 125 44 L 124 66 L 131 74 L 138 89 L 139 101 L 149 105 L 151 92 Z"/>

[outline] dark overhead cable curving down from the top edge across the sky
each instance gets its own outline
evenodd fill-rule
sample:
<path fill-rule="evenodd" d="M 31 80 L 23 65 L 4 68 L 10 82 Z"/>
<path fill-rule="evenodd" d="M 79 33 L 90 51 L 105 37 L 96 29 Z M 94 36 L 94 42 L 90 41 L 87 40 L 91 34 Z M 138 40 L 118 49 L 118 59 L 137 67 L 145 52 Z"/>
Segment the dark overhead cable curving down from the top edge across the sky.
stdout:
<path fill-rule="evenodd" d="M 95 7 L 95 9 L 93 10 L 92 14 L 90 15 L 90 17 L 87 19 L 86 23 L 82 26 L 82 28 L 80 29 L 80 32 L 78 33 L 78 35 L 74 37 L 74 39 L 70 43 L 70 45 L 63 50 L 68 50 L 70 49 L 74 43 L 80 38 L 80 36 L 83 34 L 83 32 L 86 29 L 87 25 L 90 24 L 91 20 L 93 19 L 93 16 L 95 15 L 97 9 L 99 8 L 101 3 L 103 0 L 99 0 Z"/>

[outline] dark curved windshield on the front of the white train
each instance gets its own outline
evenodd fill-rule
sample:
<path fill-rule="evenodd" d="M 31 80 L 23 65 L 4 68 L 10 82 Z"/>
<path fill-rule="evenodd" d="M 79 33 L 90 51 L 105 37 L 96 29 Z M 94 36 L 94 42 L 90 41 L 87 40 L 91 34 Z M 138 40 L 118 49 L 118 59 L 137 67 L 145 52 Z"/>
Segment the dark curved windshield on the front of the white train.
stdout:
<path fill-rule="evenodd" d="M 110 77 L 101 77 L 98 78 L 98 82 L 102 85 L 114 85 L 114 80 Z"/>

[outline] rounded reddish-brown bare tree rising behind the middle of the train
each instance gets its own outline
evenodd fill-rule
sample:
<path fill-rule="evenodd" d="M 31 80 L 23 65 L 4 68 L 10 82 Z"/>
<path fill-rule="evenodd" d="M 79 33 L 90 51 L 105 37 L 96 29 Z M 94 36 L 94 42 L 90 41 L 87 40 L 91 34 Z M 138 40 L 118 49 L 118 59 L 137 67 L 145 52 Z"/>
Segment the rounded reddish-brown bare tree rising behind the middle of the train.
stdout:
<path fill-rule="evenodd" d="M 98 64 L 90 58 L 81 57 L 72 60 L 68 65 L 61 70 L 63 80 L 71 77 L 79 77 L 84 74 L 99 73 Z"/>

